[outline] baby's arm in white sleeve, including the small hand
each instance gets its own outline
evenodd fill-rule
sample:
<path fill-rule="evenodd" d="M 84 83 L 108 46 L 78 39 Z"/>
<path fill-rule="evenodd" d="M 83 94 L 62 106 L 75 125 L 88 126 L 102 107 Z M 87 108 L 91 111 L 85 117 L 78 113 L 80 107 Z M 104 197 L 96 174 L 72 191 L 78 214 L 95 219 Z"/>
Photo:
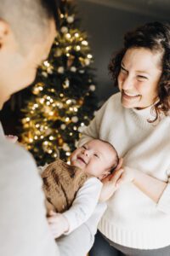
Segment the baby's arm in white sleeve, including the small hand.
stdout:
<path fill-rule="evenodd" d="M 94 212 L 99 201 L 102 183 L 96 177 L 89 178 L 78 190 L 71 208 L 64 213 L 55 213 L 48 218 L 48 224 L 57 238 L 63 234 L 68 235 L 86 222 Z"/>

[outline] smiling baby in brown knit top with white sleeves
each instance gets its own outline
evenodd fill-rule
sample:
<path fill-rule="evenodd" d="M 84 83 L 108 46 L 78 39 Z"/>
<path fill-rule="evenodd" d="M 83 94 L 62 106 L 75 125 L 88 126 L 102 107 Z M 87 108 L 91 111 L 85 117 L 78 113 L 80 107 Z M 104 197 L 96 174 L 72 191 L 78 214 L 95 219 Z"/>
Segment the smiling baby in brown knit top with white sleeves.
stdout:
<path fill-rule="evenodd" d="M 42 172 L 48 223 L 54 238 L 70 234 L 91 216 L 99 201 L 100 180 L 117 164 L 116 149 L 94 139 L 71 154 L 71 166 L 56 160 Z"/>

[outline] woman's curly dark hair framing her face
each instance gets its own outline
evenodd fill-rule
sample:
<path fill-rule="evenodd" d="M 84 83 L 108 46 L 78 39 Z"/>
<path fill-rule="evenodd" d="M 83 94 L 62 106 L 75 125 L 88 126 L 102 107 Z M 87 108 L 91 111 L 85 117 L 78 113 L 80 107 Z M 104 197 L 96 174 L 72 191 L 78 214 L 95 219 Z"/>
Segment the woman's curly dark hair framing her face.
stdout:
<path fill-rule="evenodd" d="M 158 83 L 159 102 L 156 102 L 154 106 L 156 119 L 158 119 L 159 113 L 163 112 L 165 115 L 169 115 L 170 112 L 170 24 L 158 21 L 150 22 L 125 34 L 124 47 L 111 58 L 109 64 L 109 71 L 115 86 L 118 85 L 117 77 L 120 73 L 123 55 L 127 49 L 140 47 L 162 53 L 162 73 Z"/>

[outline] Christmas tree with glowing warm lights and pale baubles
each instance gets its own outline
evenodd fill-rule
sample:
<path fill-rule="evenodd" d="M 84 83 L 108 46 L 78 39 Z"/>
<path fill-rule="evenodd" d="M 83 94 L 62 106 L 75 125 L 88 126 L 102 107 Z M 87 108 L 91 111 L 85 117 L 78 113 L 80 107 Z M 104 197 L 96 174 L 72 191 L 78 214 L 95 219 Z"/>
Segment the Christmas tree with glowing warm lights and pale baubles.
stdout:
<path fill-rule="evenodd" d="M 22 109 L 20 142 L 38 165 L 68 160 L 84 125 L 94 117 L 94 70 L 87 33 L 80 30 L 75 6 L 60 3 L 60 25 L 47 61 Z"/>

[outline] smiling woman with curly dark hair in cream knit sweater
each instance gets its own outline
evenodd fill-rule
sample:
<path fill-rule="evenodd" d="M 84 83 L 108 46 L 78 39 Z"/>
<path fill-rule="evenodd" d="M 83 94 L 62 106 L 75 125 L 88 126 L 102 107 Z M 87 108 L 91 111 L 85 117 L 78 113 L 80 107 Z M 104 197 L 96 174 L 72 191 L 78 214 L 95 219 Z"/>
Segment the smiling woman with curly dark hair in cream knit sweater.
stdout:
<path fill-rule="evenodd" d="M 112 143 L 122 176 L 107 201 L 90 256 L 170 255 L 170 26 L 153 22 L 127 32 L 111 60 L 120 92 L 83 131 Z"/>

